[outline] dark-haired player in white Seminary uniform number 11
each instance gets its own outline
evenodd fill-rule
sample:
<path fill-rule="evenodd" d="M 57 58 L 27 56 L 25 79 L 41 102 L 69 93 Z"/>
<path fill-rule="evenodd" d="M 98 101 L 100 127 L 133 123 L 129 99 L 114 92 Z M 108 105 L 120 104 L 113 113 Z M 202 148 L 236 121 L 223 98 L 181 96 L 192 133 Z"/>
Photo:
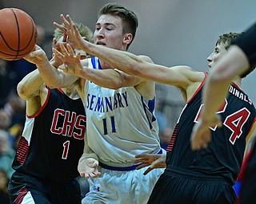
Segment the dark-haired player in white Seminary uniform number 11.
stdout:
<path fill-rule="evenodd" d="M 132 11 L 107 4 L 98 12 L 94 43 L 125 51 L 137 26 L 138 19 Z M 114 66 L 97 57 L 81 64 L 71 54 L 70 59 L 62 57 L 63 61 L 68 60 L 66 65 L 86 65 L 90 67 L 88 72 L 72 76 L 50 65 L 41 66 L 42 61 L 38 69 L 50 87 L 66 87 L 80 81 L 78 92 L 86 106 L 85 147 L 88 148 L 80 159 L 78 171 L 90 182 L 90 192 L 82 203 L 146 203 L 163 170 L 152 171 L 145 177 L 145 170 L 136 171 L 138 165 L 133 162 L 138 154 L 162 153 L 154 116 L 154 82 L 114 70 Z M 152 63 L 149 57 L 142 59 Z"/>

